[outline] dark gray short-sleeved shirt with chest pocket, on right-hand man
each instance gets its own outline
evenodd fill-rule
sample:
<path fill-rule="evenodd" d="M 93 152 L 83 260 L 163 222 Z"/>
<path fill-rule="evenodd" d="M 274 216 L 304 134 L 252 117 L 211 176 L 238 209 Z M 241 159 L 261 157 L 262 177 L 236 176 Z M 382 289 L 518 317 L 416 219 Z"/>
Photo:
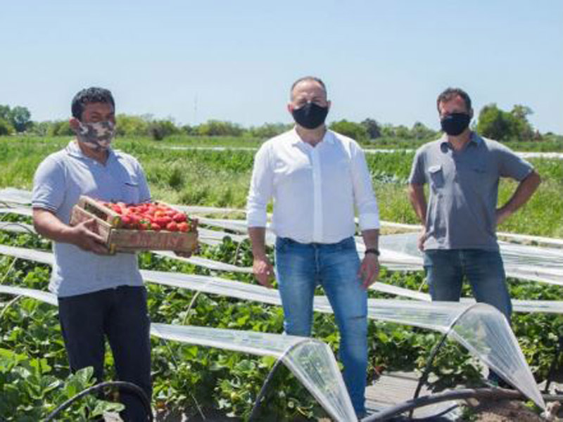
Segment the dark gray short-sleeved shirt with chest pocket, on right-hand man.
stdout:
<path fill-rule="evenodd" d="M 509 148 L 472 133 L 462 151 L 445 136 L 417 150 L 409 183 L 429 184 L 424 249 L 498 250 L 495 210 L 500 177 L 533 170 Z"/>

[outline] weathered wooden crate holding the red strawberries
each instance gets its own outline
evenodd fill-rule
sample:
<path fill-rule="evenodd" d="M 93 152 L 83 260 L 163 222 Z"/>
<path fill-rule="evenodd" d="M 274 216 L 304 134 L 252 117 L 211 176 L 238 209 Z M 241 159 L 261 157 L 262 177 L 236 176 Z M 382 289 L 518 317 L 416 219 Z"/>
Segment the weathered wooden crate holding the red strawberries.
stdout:
<path fill-rule="evenodd" d="M 77 205 L 72 207 L 70 225 L 75 226 L 91 219 L 96 222 L 93 231 L 103 238 L 110 253 L 141 250 L 194 252 L 198 245 L 195 227 L 186 232 L 122 229 L 117 212 L 87 196 L 81 196 Z"/>

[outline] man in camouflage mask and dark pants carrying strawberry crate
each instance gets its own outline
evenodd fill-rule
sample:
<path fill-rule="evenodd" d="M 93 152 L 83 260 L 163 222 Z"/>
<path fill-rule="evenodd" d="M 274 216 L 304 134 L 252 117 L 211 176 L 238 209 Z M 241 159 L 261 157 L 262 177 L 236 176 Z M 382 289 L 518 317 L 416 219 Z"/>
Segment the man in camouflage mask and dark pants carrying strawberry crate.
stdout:
<path fill-rule="evenodd" d="M 92 222 L 69 226 L 80 195 L 106 201 L 151 199 L 144 172 L 131 155 L 113 151 L 115 103 L 107 89 L 89 88 L 72 100 L 70 127 L 76 139 L 49 155 L 37 169 L 33 222 L 54 242 L 49 290 L 58 296 L 59 321 L 72 371 L 94 367 L 103 378 L 105 338 L 121 381 L 139 385 L 151 397 L 150 321 L 137 255 L 107 255 Z M 146 421 L 140 400 L 123 391 L 126 421 Z"/>

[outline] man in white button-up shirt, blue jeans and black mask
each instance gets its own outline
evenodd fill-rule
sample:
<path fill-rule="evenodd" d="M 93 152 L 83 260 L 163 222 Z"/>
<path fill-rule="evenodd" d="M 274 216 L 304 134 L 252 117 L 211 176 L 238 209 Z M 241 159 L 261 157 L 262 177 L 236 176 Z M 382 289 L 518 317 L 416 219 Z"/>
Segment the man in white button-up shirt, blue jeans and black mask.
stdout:
<path fill-rule="evenodd" d="M 344 381 L 356 414 L 365 415 L 367 293 L 379 275 L 379 210 L 365 156 L 353 139 L 327 130 L 331 106 L 317 77 L 291 87 L 287 110 L 296 126 L 265 142 L 254 161 L 248 193 L 248 234 L 255 278 L 271 287 L 265 250 L 266 207 L 274 200 L 275 273 L 284 328 L 309 336 L 317 283 L 324 288 L 341 333 Z M 355 208 L 366 246 L 356 250 Z"/>

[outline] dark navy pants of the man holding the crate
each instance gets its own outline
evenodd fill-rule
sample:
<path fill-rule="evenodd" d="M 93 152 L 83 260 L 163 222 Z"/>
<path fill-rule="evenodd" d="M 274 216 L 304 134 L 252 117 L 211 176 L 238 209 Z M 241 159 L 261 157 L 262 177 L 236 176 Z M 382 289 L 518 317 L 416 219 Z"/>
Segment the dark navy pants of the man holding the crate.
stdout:
<path fill-rule="evenodd" d="M 151 399 L 151 323 L 144 287 L 119 286 L 58 298 L 58 318 L 73 372 L 93 366 L 94 376 L 103 381 L 107 336 L 118 379 L 139 385 Z M 123 391 L 120 398 L 125 421 L 147 420 L 137 395 Z"/>

